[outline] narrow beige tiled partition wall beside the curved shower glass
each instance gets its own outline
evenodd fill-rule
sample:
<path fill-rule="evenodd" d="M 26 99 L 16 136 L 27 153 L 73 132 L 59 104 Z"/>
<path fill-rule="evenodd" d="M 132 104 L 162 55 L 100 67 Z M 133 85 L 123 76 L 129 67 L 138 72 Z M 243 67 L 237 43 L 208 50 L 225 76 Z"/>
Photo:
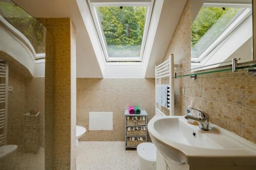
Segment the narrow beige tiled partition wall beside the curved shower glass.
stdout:
<path fill-rule="evenodd" d="M 75 128 L 71 128 L 75 124 L 72 124 L 74 117 L 71 114 L 71 94 L 75 93 L 71 88 L 74 84 L 71 68 L 75 63 L 72 59 L 75 57 L 72 52 L 75 47 L 71 42 L 74 35 L 71 33 L 72 22 L 70 18 L 45 18 L 40 21 L 53 35 L 52 39 L 49 34 L 46 43 L 46 121 L 49 121 L 46 124 L 46 156 L 49 156 L 46 169 L 52 169 L 52 166 L 53 169 L 75 169 L 74 153 L 71 153 L 71 135 Z"/>

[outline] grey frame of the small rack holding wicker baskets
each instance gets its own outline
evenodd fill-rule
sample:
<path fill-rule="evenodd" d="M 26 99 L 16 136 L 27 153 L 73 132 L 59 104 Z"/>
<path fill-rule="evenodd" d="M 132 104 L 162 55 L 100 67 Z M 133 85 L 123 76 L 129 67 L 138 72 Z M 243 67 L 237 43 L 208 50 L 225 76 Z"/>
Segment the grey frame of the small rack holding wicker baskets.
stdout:
<path fill-rule="evenodd" d="M 147 141 L 147 113 L 145 110 L 141 110 L 140 114 L 130 114 L 128 110 L 125 110 L 124 112 L 124 116 L 125 116 L 125 150 L 127 148 L 137 148 L 137 146 L 127 146 L 127 137 L 143 137 L 145 138 L 145 142 Z M 145 125 L 127 125 L 127 117 L 140 117 L 140 116 L 144 116 L 145 117 Z M 145 127 L 146 128 L 146 133 L 144 136 L 128 136 L 127 135 L 127 127 Z"/>

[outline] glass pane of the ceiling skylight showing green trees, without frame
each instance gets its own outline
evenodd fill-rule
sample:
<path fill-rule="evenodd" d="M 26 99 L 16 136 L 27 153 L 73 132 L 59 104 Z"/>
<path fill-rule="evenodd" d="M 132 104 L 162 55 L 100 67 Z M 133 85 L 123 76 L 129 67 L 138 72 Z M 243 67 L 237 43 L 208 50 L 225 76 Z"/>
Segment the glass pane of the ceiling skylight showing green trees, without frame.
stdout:
<path fill-rule="evenodd" d="M 97 7 L 96 10 L 109 56 L 138 57 L 147 7 Z"/>

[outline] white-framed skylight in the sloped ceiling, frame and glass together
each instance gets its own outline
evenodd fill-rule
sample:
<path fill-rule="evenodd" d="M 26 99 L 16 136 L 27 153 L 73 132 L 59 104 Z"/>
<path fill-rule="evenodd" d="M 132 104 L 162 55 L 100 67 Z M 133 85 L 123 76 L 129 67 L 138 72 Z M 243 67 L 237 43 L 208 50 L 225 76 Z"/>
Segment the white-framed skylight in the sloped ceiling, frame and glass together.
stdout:
<path fill-rule="evenodd" d="M 105 60 L 142 61 L 152 3 L 90 5 Z"/>

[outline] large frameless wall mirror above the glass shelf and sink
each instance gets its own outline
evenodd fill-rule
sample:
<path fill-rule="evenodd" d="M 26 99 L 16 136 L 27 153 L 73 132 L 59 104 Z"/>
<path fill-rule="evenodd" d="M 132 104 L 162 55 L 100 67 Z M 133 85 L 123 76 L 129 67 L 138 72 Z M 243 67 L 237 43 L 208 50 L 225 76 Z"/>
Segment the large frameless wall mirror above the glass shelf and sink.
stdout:
<path fill-rule="evenodd" d="M 191 69 L 253 60 L 252 0 L 193 0 L 191 22 Z"/>

